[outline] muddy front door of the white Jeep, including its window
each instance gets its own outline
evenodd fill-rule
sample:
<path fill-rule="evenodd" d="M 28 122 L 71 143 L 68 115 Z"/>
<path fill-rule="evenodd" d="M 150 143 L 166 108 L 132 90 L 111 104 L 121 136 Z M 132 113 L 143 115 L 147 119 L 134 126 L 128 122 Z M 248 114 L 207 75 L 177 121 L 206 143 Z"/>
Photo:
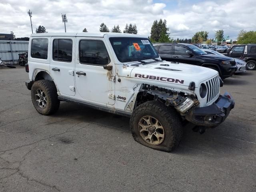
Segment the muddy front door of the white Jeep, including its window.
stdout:
<path fill-rule="evenodd" d="M 76 50 L 76 92 L 85 100 L 114 105 L 115 66 L 104 38 L 77 37 Z"/>

